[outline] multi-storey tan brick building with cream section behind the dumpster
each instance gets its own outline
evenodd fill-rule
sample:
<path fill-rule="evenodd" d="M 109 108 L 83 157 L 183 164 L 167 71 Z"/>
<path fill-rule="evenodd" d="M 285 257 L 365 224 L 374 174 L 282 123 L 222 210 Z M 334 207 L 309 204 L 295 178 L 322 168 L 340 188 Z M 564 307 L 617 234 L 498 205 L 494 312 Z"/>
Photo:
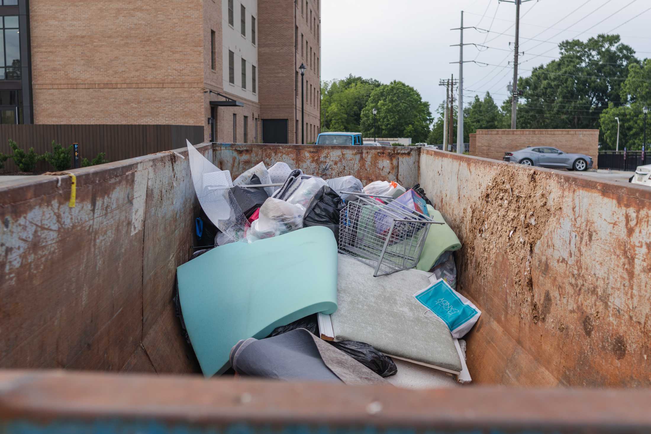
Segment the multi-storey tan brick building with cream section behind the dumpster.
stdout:
<path fill-rule="evenodd" d="M 318 131 L 320 0 L 0 0 L 0 19 L 2 123 L 295 142 L 303 62 L 305 141 Z"/>

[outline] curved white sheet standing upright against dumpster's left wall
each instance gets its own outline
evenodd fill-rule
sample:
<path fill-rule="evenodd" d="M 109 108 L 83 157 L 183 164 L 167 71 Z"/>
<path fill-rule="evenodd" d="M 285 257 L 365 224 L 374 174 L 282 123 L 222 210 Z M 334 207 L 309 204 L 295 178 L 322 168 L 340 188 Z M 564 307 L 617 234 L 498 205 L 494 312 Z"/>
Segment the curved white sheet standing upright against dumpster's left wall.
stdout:
<path fill-rule="evenodd" d="M 246 241 L 249 228 L 238 202 L 230 193 L 230 172 L 219 170 L 187 141 L 190 174 L 199 204 L 212 223 L 233 241 Z"/>

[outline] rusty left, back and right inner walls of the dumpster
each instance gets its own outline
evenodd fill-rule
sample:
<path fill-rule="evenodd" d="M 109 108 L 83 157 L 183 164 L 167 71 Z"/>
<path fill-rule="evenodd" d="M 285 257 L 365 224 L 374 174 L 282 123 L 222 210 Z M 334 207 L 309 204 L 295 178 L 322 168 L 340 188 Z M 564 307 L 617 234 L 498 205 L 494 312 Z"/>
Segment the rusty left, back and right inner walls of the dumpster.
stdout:
<path fill-rule="evenodd" d="M 642 187 L 420 148 L 199 151 L 232 176 L 285 161 L 324 178 L 420 179 L 464 243 L 461 289 L 483 312 L 469 334 L 473 379 L 648 385 L 651 193 Z M 75 208 L 68 176 L 3 185 L 0 368 L 199 372 L 171 301 L 194 243 L 188 166 L 181 149 L 74 170 Z"/>

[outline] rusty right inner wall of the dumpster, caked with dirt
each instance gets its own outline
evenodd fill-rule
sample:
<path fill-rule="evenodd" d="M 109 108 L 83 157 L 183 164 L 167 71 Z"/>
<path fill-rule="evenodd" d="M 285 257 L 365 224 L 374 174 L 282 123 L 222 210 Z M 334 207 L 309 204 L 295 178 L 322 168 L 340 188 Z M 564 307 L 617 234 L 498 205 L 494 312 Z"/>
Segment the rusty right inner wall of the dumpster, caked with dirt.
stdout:
<path fill-rule="evenodd" d="M 651 190 L 436 150 L 420 177 L 482 310 L 473 380 L 651 385 Z"/>

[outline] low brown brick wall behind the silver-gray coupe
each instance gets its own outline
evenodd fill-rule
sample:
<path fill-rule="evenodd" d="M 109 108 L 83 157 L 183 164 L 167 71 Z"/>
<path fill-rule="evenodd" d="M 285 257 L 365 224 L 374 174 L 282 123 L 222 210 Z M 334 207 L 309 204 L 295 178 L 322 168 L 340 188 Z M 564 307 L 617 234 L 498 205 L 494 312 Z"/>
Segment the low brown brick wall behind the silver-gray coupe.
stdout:
<path fill-rule="evenodd" d="M 598 144 L 598 129 L 478 129 L 475 146 L 471 137 L 470 154 L 501 160 L 505 152 L 529 146 L 553 146 L 568 154 L 592 157 L 596 168 Z"/>

